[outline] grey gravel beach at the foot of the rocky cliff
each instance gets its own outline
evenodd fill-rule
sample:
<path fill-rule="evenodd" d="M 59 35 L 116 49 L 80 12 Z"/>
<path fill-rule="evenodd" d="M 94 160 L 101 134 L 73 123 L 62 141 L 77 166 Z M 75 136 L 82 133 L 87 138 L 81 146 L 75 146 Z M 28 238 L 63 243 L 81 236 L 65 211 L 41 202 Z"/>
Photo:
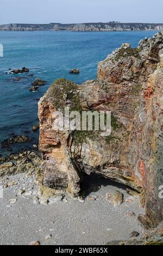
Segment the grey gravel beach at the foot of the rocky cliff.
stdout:
<path fill-rule="evenodd" d="M 137 216 L 144 213 L 139 200 L 115 182 L 88 181 L 83 202 L 65 195 L 44 205 L 37 201 L 39 188 L 34 176 L 22 173 L 6 178 L 8 187 L 0 199 L 1 245 L 29 245 L 32 241 L 41 245 L 105 245 L 112 240 L 135 239 L 130 235 L 133 231 L 140 234 L 136 239 L 143 235 L 137 221 Z M 106 200 L 106 194 L 112 198 L 117 190 L 123 193 L 124 202 L 115 207 L 111 199 Z"/>

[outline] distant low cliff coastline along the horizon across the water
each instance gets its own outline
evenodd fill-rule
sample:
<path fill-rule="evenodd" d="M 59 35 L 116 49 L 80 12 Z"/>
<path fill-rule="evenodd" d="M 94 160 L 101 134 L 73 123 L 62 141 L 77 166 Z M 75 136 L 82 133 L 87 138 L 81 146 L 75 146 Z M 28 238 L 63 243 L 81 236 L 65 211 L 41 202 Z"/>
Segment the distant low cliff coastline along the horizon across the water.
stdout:
<path fill-rule="evenodd" d="M 163 30 L 163 23 L 7 24 L 0 31 L 149 31 Z"/>

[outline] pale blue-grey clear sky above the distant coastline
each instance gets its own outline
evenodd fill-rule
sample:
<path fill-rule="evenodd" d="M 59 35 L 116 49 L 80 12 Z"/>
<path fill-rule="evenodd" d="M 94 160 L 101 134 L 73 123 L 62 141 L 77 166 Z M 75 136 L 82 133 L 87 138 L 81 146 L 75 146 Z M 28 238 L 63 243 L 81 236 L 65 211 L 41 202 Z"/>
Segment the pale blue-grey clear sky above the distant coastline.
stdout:
<path fill-rule="evenodd" d="M 163 23 L 163 0 L 0 0 L 0 24 Z"/>

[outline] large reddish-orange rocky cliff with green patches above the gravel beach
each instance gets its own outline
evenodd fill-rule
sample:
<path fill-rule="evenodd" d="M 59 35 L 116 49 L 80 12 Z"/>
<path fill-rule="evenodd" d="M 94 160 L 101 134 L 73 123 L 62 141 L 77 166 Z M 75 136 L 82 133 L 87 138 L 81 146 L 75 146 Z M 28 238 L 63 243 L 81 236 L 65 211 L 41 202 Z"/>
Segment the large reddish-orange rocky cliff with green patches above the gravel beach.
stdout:
<path fill-rule="evenodd" d="M 163 34 L 123 44 L 98 65 L 97 79 L 82 85 L 59 79 L 39 102 L 42 185 L 80 196 L 85 175 L 96 173 L 140 193 L 146 227 L 163 219 Z M 55 111 L 111 111 L 111 135 L 55 131 Z"/>

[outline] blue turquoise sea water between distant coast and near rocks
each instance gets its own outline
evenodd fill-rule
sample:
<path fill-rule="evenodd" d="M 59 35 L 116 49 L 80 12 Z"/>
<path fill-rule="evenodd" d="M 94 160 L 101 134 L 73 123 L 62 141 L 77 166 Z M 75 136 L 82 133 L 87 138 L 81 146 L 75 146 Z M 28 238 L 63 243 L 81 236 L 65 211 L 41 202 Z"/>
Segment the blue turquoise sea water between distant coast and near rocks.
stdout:
<path fill-rule="evenodd" d="M 139 40 L 153 36 L 156 31 L 142 32 L 3 32 L 0 44 L 4 46 L 4 57 L 0 58 L 0 142 L 12 133 L 37 141 L 38 133 L 31 131 L 37 119 L 37 98 L 57 78 L 67 78 L 76 83 L 91 80 L 97 76 L 97 63 L 104 60 L 116 47 L 129 42 L 136 47 Z M 29 74 L 5 74 L 9 68 L 29 68 Z M 79 68 L 79 75 L 69 74 L 72 68 Z M 23 76 L 19 82 L 14 77 Z M 35 78 L 47 80 L 39 92 L 29 92 Z M 13 150 L 25 147 L 16 145 Z M 0 154 L 4 153 L 0 147 Z"/>

